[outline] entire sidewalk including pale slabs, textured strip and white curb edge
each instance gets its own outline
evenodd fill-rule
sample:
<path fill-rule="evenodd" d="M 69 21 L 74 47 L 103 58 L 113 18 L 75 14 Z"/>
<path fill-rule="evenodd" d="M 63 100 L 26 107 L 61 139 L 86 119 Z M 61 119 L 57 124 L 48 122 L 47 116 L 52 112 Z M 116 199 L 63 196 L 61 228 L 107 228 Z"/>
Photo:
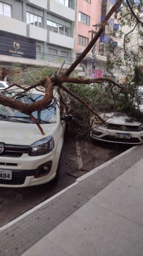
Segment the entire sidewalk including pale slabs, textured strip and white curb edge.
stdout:
<path fill-rule="evenodd" d="M 143 255 L 143 145 L 2 227 L 1 255 Z"/>

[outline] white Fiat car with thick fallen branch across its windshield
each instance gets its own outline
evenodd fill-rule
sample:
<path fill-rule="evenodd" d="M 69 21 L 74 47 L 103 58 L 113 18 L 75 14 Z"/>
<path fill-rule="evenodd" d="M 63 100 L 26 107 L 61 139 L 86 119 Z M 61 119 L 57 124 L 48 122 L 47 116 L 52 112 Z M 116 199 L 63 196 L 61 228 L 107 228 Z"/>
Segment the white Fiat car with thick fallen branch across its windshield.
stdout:
<path fill-rule="evenodd" d="M 44 93 L 34 89 L 17 96 L 17 100 L 32 103 L 43 96 Z M 60 113 L 54 99 L 46 109 L 36 111 L 33 115 L 45 136 L 28 116 L 0 105 L 1 187 L 34 186 L 58 176 L 65 121 L 70 121 L 72 116 Z"/>

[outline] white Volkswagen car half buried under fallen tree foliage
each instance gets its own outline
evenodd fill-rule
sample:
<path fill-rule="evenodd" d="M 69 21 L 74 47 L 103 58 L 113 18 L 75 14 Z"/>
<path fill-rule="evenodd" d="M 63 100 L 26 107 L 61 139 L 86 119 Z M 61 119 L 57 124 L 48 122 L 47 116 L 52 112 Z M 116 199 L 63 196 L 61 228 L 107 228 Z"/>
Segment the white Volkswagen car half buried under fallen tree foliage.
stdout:
<path fill-rule="evenodd" d="M 124 113 L 106 113 L 104 116 L 108 126 L 93 122 L 90 136 L 94 140 L 112 143 L 142 144 L 143 124 L 131 121 Z"/>

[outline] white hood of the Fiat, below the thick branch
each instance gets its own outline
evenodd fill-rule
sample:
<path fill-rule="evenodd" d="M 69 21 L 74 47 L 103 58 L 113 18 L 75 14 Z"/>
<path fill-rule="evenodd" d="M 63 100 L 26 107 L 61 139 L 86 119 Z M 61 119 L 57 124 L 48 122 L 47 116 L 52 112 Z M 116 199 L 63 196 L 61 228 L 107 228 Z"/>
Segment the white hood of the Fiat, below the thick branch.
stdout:
<path fill-rule="evenodd" d="M 45 136 L 36 124 L 0 121 L 0 143 L 28 146 L 46 136 L 54 137 L 58 130 L 57 123 L 41 124 L 41 127 Z"/>

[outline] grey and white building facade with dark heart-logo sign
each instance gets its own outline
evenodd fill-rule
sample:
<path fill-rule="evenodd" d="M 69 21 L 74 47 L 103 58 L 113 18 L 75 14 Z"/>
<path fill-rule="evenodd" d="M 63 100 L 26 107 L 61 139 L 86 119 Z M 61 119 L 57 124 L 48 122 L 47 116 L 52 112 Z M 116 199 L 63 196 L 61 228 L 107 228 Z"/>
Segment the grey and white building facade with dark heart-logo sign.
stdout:
<path fill-rule="evenodd" d="M 65 67 L 73 62 L 74 0 L 0 1 L 0 61 Z"/>

